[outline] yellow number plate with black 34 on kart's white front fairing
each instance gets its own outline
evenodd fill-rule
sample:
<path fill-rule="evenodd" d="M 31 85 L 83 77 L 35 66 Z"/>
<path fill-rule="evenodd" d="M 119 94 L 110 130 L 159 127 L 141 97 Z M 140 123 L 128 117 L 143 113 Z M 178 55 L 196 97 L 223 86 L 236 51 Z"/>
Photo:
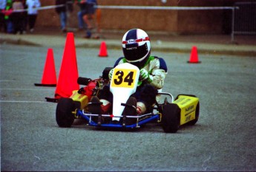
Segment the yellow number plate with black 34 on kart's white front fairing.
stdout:
<path fill-rule="evenodd" d="M 111 86 L 133 88 L 136 80 L 135 69 L 114 69 Z"/>

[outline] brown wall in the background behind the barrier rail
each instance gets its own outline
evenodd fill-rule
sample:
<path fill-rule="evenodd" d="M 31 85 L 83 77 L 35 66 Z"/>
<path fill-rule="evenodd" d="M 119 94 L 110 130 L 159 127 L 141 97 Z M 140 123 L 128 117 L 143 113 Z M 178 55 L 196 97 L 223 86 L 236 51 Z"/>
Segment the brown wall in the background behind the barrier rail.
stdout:
<path fill-rule="evenodd" d="M 243 1 L 243 0 L 240 0 Z M 144 5 L 179 7 L 221 7 L 232 6 L 235 0 L 98 0 L 99 5 Z M 53 5 L 54 1 L 41 0 L 42 6 Z M 68 26 L 77 28 L 76 13 L 79 7 L 74 4 Z M 102 30 L 143 30 L 168 32 L 170 34 L 222 33 L 230 30 L 231 10 L 101 10 Z M 59 16 L 55 10 L 41 10 L 37 24 L 59 26 Z"/>

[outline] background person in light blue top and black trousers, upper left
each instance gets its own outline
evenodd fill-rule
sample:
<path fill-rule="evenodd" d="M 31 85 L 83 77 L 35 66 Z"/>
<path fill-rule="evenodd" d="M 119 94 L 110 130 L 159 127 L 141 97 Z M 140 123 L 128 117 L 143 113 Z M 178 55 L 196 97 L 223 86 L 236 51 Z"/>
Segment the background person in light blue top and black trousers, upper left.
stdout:
<path fill-rule="evenodd" d="M 36 24 L 36 18 L 37 18 L 37 8 L 41 6 L 41 3 L 39 0 L 27 0 L 27 21 L 28 26 L 30 29 L 30 32 L 34 31 L 34 27 Z"/>

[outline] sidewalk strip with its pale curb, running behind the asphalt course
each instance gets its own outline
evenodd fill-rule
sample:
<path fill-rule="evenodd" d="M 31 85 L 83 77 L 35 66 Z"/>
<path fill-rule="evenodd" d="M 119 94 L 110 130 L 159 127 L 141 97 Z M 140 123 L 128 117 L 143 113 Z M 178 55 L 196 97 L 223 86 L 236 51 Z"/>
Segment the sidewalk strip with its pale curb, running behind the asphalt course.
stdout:
<path fill-rule="evenodd" d="M 108 49 L 120 49 L 125 30 L 102 30 L 99 39 L 84 38 L 85 31 L 69 28 L 73 32 L 76 47 L 99 48 L 105 41 Z M 95 32 L 95 30 L 93 30 Z M 249 55 L 256 56 L 256 35 L 174 35 L 167 32 L 148 31 L 152 50 L 160 52 L 191 52 L 197 47 L 201 54 Z M 6 34 L 0 33 L 1 44 L 22 44 L 39 47 L 59 47 L 65 45 L 66 33 L 56 27 L 37 27 L 33 33 Z"/>

